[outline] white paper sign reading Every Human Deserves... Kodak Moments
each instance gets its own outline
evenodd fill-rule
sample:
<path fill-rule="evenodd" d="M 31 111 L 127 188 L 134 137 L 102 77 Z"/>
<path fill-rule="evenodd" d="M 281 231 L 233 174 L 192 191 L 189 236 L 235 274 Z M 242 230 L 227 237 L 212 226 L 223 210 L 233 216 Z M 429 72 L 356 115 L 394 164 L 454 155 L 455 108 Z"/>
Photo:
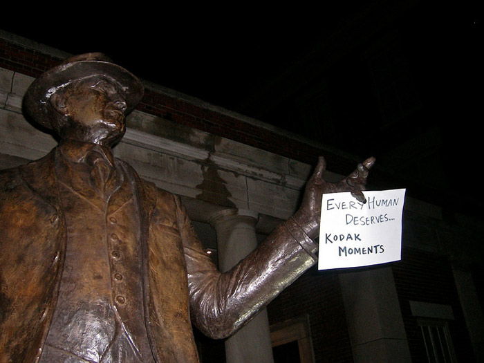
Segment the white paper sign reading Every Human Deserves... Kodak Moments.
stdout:
<path fill-rule="evenodd" d="M 349 192 L 324 194 L 319 270 L 399 261 L 405 191 L 364 191 L 366 203 Z"/>

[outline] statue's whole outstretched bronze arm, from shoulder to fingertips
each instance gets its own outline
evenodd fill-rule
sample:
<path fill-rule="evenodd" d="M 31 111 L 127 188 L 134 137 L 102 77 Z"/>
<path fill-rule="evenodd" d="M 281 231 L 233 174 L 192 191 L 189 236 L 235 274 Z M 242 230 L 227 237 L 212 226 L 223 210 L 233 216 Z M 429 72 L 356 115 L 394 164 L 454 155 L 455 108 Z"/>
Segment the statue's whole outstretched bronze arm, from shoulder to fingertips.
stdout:
<path fill-rule="evenodd" d="M 192 321 L 206 335 L 232 335 L 316 261 L 322 194 L 361 190 L 375 160 L 369 158 L 337 183 L 323 179 L 326 161 L 320 158 L 308 180 L 301 207 L 281 223 L 253 252 L 231 270 L 219 272 L 203 252 L 192 223 L 180 207 L 179 223 L 187 262 Z"/>

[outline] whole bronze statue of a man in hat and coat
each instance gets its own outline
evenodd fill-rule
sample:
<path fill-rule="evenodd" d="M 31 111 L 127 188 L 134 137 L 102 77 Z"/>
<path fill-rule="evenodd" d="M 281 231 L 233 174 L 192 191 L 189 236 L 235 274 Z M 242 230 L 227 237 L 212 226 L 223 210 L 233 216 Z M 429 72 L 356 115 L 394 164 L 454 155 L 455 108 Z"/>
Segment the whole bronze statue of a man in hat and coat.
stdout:
<path fill-rule="evenodd" d="M 312 266 L 322 194 L 360 191 L 319 160 L 297 213 L 221 274 L 178 196 L 113 158 L 143 87 L 100 53 L 35 80 L 26 110 L 47 156 L 0 173 L 0 362 L 197 362 L 192 323 L 230 336 Z"/>

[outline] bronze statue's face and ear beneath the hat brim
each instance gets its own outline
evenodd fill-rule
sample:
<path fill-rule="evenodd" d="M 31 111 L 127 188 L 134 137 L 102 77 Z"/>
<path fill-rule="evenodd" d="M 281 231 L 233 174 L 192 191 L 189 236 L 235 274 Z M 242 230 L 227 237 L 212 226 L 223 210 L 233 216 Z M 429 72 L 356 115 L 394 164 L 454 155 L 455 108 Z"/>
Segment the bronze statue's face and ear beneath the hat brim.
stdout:
<path fill-rule="evenodd" d="M 56 109 L 68 118 L 61 137 L 99 145 L 112 145 L 125 131 L 124 95 L 113 82 L 90 77 L 68 86 Z"/>

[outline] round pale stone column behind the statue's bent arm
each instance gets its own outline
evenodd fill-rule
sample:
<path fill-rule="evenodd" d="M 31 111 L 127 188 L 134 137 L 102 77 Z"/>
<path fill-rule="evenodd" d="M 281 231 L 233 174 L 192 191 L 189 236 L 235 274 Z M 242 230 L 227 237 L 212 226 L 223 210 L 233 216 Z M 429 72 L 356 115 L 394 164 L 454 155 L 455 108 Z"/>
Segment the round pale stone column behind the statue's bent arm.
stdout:
<path fill-rule="evenodd" d="M 223 210 L 210 218 L 218 244 L 218 267 L 230 270 L 257 247 L 257 214 L 250 210 Z M 227 363 L 272 363 L 269 320 L 264 308 L 225 341 Z"/>

